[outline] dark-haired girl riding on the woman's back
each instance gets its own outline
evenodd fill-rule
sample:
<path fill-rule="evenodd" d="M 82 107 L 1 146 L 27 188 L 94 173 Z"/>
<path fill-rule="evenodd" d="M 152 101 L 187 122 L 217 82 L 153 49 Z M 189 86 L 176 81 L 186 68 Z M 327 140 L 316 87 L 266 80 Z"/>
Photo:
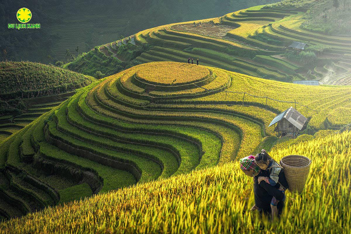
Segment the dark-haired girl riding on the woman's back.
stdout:
<path fill-rule="evenodd" d="M 262 180 L 266 181 L 266 183 L 279 188 L 282 190 L 283 193 L 285 193 L 285 190 L 289 188 L 289 185 L 287 184 L 287 181 L 285 179 L 285 174 L 284 171 L 282 170 L 282 166 L 279 165 L 278 162 L 276 162 L 274 159 L 269 156 L 269 154 L 262 149 L 260 153 L 256 154 L 255 156 L 255 161 L 256 165 L 261 168 L 261 170 L 268 170 L 269 171 L 269 178 L 260 176 L 258 178 L 258 183 L 260 183 Z M 284 199 L 285 200 L 285 195 Z M 273 197 L 271 201 L 271 209 L 272 209 L 272 219 L 276 218 L 278 215 L 278 200 Z"/>

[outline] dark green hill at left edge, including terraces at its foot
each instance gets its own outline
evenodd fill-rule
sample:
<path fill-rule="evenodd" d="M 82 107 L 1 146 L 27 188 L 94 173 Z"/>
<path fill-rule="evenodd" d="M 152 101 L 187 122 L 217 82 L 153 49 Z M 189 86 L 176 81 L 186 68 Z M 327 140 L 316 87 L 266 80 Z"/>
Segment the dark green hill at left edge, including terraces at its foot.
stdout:
<path fill-rule="evenodd" d="M 33 62 L 0 62 L 0 142 L 95 78 Z"/>

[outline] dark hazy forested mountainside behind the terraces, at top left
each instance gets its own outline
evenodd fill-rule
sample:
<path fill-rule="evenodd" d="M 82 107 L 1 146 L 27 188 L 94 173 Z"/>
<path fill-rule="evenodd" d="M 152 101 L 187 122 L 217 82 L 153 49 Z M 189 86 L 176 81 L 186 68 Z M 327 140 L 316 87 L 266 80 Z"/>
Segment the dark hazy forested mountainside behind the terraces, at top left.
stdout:
<path fill-rule="evenodd" d="M 0 3 L 0 59 L 55 63 L 65 59 L 66 49 L 75 56 L 146 28 L 204 19 L 271 2 L 276 0 L 4 0 Z M 30 23 L 40 23 L 40 29 L 7 28 L 7 24 L 18 23 L 15 14 L 21 7 L 32 11 Z"/>

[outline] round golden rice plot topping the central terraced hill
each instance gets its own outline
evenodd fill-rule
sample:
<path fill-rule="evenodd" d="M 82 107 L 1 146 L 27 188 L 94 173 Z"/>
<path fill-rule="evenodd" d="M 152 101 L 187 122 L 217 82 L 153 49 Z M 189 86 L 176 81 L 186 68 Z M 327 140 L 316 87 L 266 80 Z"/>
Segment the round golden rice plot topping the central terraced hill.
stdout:
<path fill-rule="evenodd" d="M 136 78 L 141 82 L 159 86 L 185 85 L 209 76 L 210 71 L 206 67 L 179 62 L 153 63 L 153 66 L 144 66 L 136 73 Z"/>

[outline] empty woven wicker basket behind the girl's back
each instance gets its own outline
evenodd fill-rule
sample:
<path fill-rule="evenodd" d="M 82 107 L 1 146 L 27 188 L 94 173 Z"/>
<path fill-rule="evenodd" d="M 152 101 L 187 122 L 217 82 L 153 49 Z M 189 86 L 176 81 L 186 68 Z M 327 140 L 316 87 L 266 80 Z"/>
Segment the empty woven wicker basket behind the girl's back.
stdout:
<path fill-rule="evenodd" d="M 301 155 L 288 155 L 280 160 L 289 189 L 302 193 L 305 187 L 311 160 Z"/>

